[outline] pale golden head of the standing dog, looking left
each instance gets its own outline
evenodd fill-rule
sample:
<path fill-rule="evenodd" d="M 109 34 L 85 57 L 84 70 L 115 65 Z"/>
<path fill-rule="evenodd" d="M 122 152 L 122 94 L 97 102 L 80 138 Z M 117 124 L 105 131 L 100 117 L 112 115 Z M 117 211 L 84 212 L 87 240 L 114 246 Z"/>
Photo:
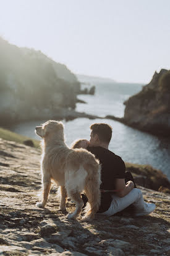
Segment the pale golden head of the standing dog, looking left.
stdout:
<path fill-rule="evenodd" d="M 41 138 L 45 139 L 46 137 L 49 137 L 49 135 L 55 135 L 56 137 L 56 135 L 63 134 L 63 129 L 64 126 L 62 122 L 49 120 L 42 124 L 42 126 L 36 126 L 35 133 Z"/>

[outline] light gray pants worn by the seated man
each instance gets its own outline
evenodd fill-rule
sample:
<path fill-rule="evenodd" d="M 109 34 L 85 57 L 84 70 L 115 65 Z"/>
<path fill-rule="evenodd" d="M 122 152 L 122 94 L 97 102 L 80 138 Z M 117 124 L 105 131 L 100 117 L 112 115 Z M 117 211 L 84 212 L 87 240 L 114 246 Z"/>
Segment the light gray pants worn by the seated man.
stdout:
<path fill-rule="evenodd" d="M 106 216 L 112 216 L 115 213 L 118 213 L 119 211 L 122 211 L 123 209 L 127 208 L 130 204 L 133 204 L 135 209 L 137 211 L 143 211 L 145 209 L 145 201 L 143 200 L 142 191 L 138 188 L 134 188 L 124 196 L 124 198 L 119 198 L 119 196 L 116 196 L 116 194 L 112 195 L 112 202 L 107 211 L 104 213 Z"/>

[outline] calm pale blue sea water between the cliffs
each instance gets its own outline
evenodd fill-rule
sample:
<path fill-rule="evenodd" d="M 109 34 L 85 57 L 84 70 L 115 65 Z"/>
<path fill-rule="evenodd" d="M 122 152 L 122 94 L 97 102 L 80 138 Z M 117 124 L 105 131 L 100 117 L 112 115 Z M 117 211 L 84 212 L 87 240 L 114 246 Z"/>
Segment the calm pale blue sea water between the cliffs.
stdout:
<path fill-rule="evenodd" d="M 84 81 L 83 81 L 84 82 Z M 90 88 L 93 83 L 83 88 Z M 133 83 L 116 83 L 115 81 L 98 80 L 95 83 L 95 95 L 79 94 L 78 98 L 86 103 L 77 103 L 76 111 L 95 114 L 100 117 L 114 115 L 124 116 L 124 101 L 138 93 L 143 85 Z M 67 92 L 66 92 L 67 93 Z M 32 139 L 40 139 L 35 134 L 35 126 L 46 120 L 22 122 L 10 129 Z M 141 132 L 140 130 L 125 126 L 109 119 L 77 118 L 73 121 L 63 121 L 65 126 L 66 144 L 71 145 L 76 139 L 90 139 L 90 125 L 95 122 L 104 122 L 113 127 L 113 137 L 109 150 L 119 155 L 124 162 L 147 164 L 163 171 L 170 180 L 170 140 L 163 137 Z"/>

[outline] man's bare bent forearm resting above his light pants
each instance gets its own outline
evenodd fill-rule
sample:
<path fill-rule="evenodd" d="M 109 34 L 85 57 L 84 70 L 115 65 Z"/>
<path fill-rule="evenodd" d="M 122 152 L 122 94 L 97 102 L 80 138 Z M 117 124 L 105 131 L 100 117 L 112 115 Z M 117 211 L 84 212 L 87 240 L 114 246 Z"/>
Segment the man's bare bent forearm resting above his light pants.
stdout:
<path fill-rule="evenodd" d="M 115 188 L 116 195 L 119 196 L 119 198 L 124 198 L 124 196 L 133 190 L 134 182 L 130 180 L 125 184 L 124 179 L 116 179 Z"/>

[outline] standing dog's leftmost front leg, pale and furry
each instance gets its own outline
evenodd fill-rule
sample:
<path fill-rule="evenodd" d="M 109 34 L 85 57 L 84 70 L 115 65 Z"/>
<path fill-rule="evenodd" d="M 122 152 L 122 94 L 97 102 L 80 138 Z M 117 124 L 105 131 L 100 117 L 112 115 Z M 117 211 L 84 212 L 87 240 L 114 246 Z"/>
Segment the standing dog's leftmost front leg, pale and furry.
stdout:
<path fill-rule="evenodd" d="M 36 203 L 39 208 L 45 208 L 48 201 L 49 191 L 51 189 L 51 177 L 49 174 L 43 176 L 43 201 L 41 203 Z"/>

